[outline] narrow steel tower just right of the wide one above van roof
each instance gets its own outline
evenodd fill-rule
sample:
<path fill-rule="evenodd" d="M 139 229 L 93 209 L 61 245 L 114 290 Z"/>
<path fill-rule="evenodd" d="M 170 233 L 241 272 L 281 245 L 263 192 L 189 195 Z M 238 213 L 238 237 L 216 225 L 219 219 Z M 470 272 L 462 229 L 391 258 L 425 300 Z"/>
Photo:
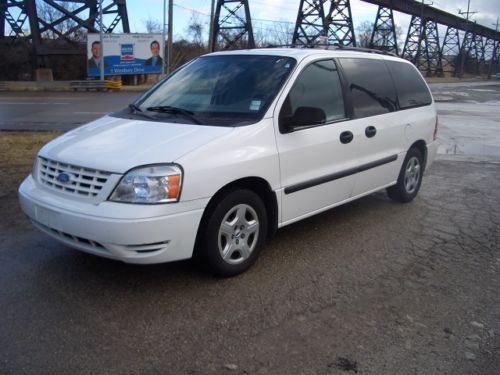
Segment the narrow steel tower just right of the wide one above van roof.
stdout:
<path fill-rule="evenodd" d="M 399 54 L 392 9 L 378 7 L 369 47 Z"/>

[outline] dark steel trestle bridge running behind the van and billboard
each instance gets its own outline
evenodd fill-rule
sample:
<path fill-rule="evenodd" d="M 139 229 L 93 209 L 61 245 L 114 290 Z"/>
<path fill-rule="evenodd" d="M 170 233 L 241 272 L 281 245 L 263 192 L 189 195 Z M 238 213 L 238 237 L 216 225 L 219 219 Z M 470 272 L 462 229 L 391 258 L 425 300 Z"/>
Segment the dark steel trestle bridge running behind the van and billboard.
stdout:
<path fill-rule="evenodd" d="M 254 47 L 249 2 L 217 0 L 210 50 Z M 363 0 L 378 6 L 369 47 L 395 53 L 428 76 L 461 75 L 498 68 L 500 33 L 413 0 Z M 0 0 L 0 39 L 29 40 L 35 56 L 67 54 L 44 43 L 44 35 L 74 43 L 78 31 L 99 32 L 99 0 Z M 130 32 L 126 0 L 102 1 L 103 30 Z M 47 9 L 49 11 L 47 11 Z M 44 11 L 42 11 L 44 10 Z M 404 43 L 397 39 L 394 12 L 411 16 Z M 105 23 L 105 21 L 107 23 Z M 69 25 L 69 26 L 68 26 Z M 438 26 L 446 27 L 443 38 Z M 443 28 L 441 28 L 443 29 Z M 6 35 L 6 32 L 9 32 Z M 349 0 L 301 0 L 292 45 L 357 46 Z M 81 52 L 80 52 L 81 53 Z"/>

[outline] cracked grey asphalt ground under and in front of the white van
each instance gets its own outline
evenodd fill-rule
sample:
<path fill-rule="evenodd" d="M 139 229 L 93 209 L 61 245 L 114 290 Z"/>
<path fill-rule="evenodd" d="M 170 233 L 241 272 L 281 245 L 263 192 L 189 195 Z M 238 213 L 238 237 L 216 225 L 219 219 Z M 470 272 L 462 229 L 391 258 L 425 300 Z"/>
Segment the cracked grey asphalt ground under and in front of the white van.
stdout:
<path fill-rule="evenodd" d="M 469 92 L 440 91 L 455 104 L 442 121 L 476 100 L 445 91 Z M 474 114 L 486 128 L 489 116 Z M 442 126 L 452 140 L 463 129 Z M 190 262 L 68 249 L 10 192 L 0 373 L 500 374 L 499 161 L 443 154 L 414 202 L 376 193 L 283 228 L 249 272 L 224 280 Z"/>

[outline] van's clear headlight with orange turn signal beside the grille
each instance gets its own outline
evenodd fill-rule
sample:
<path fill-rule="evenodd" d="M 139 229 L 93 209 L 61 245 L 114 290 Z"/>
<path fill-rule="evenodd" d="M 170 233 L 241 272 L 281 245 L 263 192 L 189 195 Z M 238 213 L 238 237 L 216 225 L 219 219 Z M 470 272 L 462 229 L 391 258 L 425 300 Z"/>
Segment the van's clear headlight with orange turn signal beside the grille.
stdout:
<path fill-rule="evenodd" d="M 177 165 L 151 165 L 129 171 L 109 197 L 113 202 L 177 202 L 181 194 L 182 169 Z"/>

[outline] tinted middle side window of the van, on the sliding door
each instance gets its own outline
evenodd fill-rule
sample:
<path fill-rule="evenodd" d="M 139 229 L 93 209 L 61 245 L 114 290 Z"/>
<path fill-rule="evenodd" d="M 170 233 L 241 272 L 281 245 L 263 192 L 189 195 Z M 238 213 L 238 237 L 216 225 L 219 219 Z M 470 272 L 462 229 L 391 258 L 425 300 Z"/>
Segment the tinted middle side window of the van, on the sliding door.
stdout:
<path fill-rule="evenodd" d="M 339 61 L 349 82 L 356 118 L 396 110 L 396 90 L 382 60 L 340 58 Z"/>

